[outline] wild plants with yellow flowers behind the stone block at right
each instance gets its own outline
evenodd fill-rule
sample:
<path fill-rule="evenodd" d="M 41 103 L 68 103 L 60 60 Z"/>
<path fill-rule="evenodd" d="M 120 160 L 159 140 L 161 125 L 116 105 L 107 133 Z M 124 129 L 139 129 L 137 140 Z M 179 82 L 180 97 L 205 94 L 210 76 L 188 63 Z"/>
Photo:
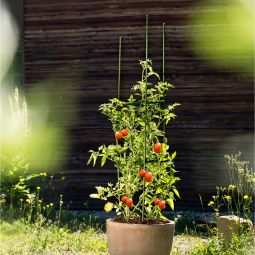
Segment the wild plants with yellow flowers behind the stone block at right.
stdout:
<path fill-rule="evenodd" d="M 216 187 L 217 193 L 208 204 L 215 211 L 216 217 L 220 215 L 221 207 L 225 206 L 229 214 L 243 214 L 245 218 L 252 219 L 255 172 L 249 167 L 249 162 L 242 161 L 240 157 L 240 152 L 236 155 L 225 155 L 230 185 Z"/>

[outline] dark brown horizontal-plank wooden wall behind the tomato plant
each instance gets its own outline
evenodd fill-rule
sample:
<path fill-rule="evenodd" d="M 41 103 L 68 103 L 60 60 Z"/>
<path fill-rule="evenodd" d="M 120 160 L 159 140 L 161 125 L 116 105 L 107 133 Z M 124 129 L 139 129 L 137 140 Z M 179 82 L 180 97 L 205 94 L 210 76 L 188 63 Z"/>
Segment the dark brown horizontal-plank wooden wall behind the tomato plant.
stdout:
<path fill-rule="evenodd" d="M 65 184 L 57 182 L 65 185 L 64 201 L 71 201 L 72 208 L 84 208 L 95 185 L 115 180 L 110 165 L 86 166 L 88 150 L 114 141 L 110 123 L 97 109 L 116 96 L 119 36 L 123 37 L 122 96 L 139 80 L 146 14 L 150 15 L 149 57 L 159 72 L 160 27 L 166 23 L 166 80 L 176 87 L 168 101 L 182 104 L 178 118 L 167 127 L 182 179 L 177 209 L 201 209 L 198 194 L 206 202 L 225 178 L 223 155 L 250 148 L 252 78 L 211 66 L 194 54 L 190 38 L 196 27 L 187 21 L 201 11 L 194 2 L 198 1 L 25 0 L 26 89 L 45 78 L 56 79 L 49 83 L 52 90 L 60 80 L 72 81 L 60 93 L 77 103 L 70 108 L 77 118 L 62 124 L 71 134 L 72 150 L 59 170 L 66 176 Z M 96 200 L 88 205 L 101 208 Z"/>

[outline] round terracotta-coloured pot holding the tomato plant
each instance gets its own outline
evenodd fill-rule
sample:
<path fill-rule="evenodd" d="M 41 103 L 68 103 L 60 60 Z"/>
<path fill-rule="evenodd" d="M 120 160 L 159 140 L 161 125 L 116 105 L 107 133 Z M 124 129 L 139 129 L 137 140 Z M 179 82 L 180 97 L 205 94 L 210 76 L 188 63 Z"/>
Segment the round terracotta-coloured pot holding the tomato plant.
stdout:
<path fill-rule="evenodd" d="M 175 222 L 129 224 L 108 219 L 106 234 L 110 255 L 169 255 Z"/>

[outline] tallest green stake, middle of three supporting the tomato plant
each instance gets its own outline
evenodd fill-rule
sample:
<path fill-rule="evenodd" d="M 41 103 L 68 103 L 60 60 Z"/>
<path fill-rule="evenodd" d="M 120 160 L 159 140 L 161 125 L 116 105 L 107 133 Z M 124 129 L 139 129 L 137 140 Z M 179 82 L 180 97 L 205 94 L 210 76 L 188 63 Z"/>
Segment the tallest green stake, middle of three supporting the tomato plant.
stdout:
<path fill-rule="evenodd" d="M 149 16 L 146 15 L 146 31 L 145 31 L 145 61 L 146 61 L 146 69 L 145 69 L 145 120 L 144 120 L 144 159 L 143 159 L 143 167 L 146 169 L 146 136 L 147 136 L 147 76 L 148 76 L 148 20 Z M 144 202 L 145 202 L 145 180 L 143 178 L 143 204 L 142 204 L 142 222 L 144 221 Z"/>

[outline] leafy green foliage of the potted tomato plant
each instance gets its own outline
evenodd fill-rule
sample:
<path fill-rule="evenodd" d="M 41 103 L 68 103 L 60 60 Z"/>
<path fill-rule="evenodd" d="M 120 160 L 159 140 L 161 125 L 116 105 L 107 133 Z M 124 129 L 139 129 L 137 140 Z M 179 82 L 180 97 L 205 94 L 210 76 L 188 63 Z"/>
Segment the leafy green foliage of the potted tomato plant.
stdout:
<path fill-rule="evenodd" d="M 108 187 L 96 187 L 97 194 L 91 194 L 91 197 L 102 200 L 115 198 L 114 208 L 118 215 L 124 217 L 132 217 L 137 212 L 142 213 L 143 197 L 145 197 L 145 215 L 160 218 L 160 209 L 154 206 L 153 200 L 158 197 L 174 209 L 175 196 L 180 197 L 175 187 L 179 178 L 174 176 L 176 170 L 173 160 L 176 152 L 169 152 L 170 147 L 162 128 L 164 123 L 167 124 L 176 117 L 173 110 L 179 104 L 174 103 L 163 107 L 166 92 L 173 88 L 173 85 L 160 81 L 159 75 L 152 69 L 150 60 L 140 61 L 140 64 L 142 79 L 132 87 L 132 94 L 127 101 L 113 98 L 99 108 L 101 113 L 111 121 L 114 133 L 124 128 L 128 129 L 129 133 L 121 141 L 116 140 L 116 144 L 102 145 L 97 151 L 90 150 L 88 164 L 93 163 L 95 166 L 98 158 L 101 158 L 103 167 L 107 160 L 112 161 L 119 177 L 115 185 L 109 183 Z M 146 69 L 147 79 L 150 77 L 158 79 L 155 84 L 148 82 L 147 89 Z M 147 104 L 145 104 L 146 98 Z M 161 142 L 161 153 L 153 151 L 153 145 L 157 142 Z M 144 159 L 145 151 L 146 159 Z M 151 183 L 144 184 L 139 176 L 144 160 L 146 170 L 153 174 Z M 143 185 L 145 185 L 144 192 Z M 129 209 L 121 202 L 122 195 L 130 198 L 138 197 L 133 208 Z"/>

